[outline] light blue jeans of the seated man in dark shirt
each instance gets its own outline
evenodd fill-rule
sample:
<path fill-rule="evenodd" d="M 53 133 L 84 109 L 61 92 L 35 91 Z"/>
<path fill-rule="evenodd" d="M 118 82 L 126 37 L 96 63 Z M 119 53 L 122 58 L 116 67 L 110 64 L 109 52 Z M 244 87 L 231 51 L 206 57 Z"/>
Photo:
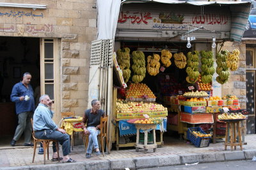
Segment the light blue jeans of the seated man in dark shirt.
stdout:
<path fill-rule="evenodd" d="M 87 127 L 87 130 L 90 132 L 90 135 L 86 153 L 92 153 L 92 146 L 95 149 L 99 148 L 97 136 L 100 134 L 100 131 L 96 130 L 95 127 Z"/>

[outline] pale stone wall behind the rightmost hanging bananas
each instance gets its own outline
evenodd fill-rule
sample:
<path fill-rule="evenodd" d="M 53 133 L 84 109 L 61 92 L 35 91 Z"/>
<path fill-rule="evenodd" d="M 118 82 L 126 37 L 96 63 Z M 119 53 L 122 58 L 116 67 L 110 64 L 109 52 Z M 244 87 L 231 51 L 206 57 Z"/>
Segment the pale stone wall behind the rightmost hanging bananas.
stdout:
<path fill-rule="evenodd" d="M 246 45 L 233 46 L 233 42 L 225 42 L 221 50 L 229 52 L 237 48 L 240 51 L 239 67 L 237 71 L 230 71 L 229 80 L 222 86 L 223 96 L 226 94 L 236 95 L 242 109 L 246 108 Z"/>

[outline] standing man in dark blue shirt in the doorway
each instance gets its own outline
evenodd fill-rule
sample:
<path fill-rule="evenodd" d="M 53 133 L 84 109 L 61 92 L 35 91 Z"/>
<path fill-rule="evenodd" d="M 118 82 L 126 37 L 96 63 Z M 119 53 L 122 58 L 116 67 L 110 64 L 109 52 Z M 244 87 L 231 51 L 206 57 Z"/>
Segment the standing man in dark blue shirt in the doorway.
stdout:
<path fill-rule="evenodd" d="M 31 143 L 32 127 L 30 119 L 35 111 L 35 99 L 33 89 L 29 84 L 30 81 L 31 74 L 24 73 L 22 81 L 16 83 L 12 89 L 11 101 L 15 102 L 16 113 L 19 118 L 19 125 L 10 143 L 12 146 L 15 146 L 23 132 L 24 146 L 33 146 L 33 143 Z"/>

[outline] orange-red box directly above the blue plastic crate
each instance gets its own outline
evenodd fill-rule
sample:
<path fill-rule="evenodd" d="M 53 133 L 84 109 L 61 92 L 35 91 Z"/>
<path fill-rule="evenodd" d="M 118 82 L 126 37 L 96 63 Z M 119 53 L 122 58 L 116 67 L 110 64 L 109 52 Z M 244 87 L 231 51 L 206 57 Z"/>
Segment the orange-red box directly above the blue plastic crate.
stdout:
<path fill-rule="evenodd" d="M 189 124 L 213 124 L 212 114 L 209 113 L 180 113 L 180 122 L 186 122 Z"/>

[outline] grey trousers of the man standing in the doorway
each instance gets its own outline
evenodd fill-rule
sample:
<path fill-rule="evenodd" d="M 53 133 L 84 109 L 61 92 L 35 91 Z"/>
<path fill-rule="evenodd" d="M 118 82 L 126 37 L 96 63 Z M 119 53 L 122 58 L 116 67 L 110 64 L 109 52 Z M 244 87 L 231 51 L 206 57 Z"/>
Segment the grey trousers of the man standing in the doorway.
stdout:
<path fill-rule="evenodd" d="M 19 113 L 19 125 L 16 127 L 13 139 L 18 141 L 24 132 L 24 143 L 31 143 L 32 125 L 31 118 L 33 118 L 33 111 L 26 111 Z"/>

